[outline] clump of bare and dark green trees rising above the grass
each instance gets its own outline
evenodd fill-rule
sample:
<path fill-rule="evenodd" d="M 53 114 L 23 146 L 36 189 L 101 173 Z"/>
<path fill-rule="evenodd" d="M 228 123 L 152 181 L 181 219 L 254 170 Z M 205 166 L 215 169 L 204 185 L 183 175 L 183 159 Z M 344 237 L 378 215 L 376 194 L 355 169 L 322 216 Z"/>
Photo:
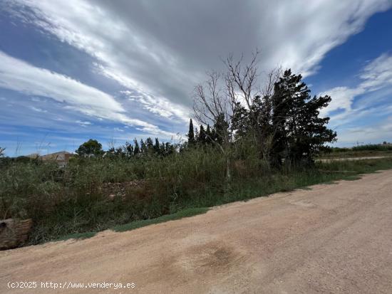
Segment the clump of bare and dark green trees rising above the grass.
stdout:
<path fill-rule="evenodd" d="M 227 73 L 210 73 L 196 86 L 194 112 L 201 125 L 192 145 L 211 140 L 227 160 L 237 145 L 252 145 L 259 158 L 275 167 L 310 164 L 321 147 L 336 140 L 336 132 L 327 127 L 329 117 L 319 116 L 331 97 L 311 96 L 302 76 L 290 69 L 272 70 L 266 85 L 258 85 L 257 54 L 247 64 L 229 56 Z"/>

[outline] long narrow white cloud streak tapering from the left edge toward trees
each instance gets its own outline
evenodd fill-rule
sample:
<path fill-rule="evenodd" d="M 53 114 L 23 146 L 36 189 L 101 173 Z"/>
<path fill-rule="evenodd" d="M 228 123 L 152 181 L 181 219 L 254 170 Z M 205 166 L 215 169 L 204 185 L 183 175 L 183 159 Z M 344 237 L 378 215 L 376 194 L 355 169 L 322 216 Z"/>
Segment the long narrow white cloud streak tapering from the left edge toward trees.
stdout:
<path fill-rule="evenodd" d="M 92 117 L 123 122 L 144 132 L 172 136 L 172 133 L 143 120 L 125 115 L 123 106 L 113 96 L 85 85 L 59 73 L 44 68 L 37 68 L 29 63 L 6 55 L 0 51 L 0 87 L 16 90 L 27 95 L 52 98 L 64 103 L 64 108 L 83 112 Z M 31 107 L 37 112 L 45 112 L 38 107 Z M 82 125 L 86 123 L 81 122 Z"/>

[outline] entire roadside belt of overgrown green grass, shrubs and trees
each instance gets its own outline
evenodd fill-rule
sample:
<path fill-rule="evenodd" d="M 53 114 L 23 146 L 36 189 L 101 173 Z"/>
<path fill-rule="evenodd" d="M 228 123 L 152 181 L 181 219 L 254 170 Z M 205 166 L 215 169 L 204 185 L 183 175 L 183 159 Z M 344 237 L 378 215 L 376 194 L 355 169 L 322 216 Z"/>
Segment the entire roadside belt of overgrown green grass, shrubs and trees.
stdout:
<path fill-rule="evenodd" d="M 256 63 L 257 53 L 247 65 L 229 57 L 227 73 L 210 73 L 197 85 L 200 127 L 190 120 L 185 143 L 148 138 L 105 152 L 88 140 L 66 167 L 1 158 L 0 219 L 33 219 L 29 243 L 36 244 L 133 229 L 392 167 L 392 159 L 314 163 L 325 143 L 336 140 L 329 118 L 319 117 L 331 98 L 312 97 L 291 70 L 274 70 L 261 87 Z"/>

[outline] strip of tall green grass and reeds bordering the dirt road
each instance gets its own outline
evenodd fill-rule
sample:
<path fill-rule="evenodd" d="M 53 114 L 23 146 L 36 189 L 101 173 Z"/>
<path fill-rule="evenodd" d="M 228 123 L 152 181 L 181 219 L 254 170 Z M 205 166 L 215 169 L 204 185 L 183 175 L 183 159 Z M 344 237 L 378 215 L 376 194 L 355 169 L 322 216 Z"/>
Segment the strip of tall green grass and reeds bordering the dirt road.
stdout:
<path fill-rule="evenodd" d="M 385 159 L 276 171 L 254 154 L 242 154 L 233 157 L 228 182 L 225 158 L 214 148 L 167 157 L 73 159 L 66 168 L 9 162 L 0 167 L 0 218 L 33 219 L 29 243 L 36 244 L 391 167 L 392 159 Z"/>

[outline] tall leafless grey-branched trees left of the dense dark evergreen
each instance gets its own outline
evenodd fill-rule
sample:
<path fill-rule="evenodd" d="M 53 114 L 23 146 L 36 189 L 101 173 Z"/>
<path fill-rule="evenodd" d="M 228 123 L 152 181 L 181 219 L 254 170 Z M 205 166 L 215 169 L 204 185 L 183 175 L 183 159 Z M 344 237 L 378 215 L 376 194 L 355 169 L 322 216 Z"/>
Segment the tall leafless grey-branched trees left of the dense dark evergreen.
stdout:
<path fill-rule="evenodd" d="M 274 84 L 282 74 L 281 68 L 275 68 L 267 73 L 263 78 L 264 84 L 259 87 L 259 50 L 252 53 L 252 58 L 246 63 L 243 56 L 234 60 L 229 55 L 223 63 L 226 65 L 224 74 L 212 71 L 207 73 L 207 81 L 195 87 L 194 114 L 196 120 L 202 125 L 217 122 L 218 117 L 223 115 L 228 129 L 222 134 L 222 144 L 219 147 L 227 157 L 227 177 L 229 177 L 229 157 L 232 148 L 232 117 L 237 111 L 237 107 L 244 107 L 251 120 L 252 135 L 262 154 L 269 154 L 271 147 L 271 130 L 263 130 L 262 120 L 267 119 L 271 112 L 272 95 Z M 254 106 L 256 101 L 262 99 L 262 109 Z M 265 122 L 267 125 L 267 122 Z"/>

